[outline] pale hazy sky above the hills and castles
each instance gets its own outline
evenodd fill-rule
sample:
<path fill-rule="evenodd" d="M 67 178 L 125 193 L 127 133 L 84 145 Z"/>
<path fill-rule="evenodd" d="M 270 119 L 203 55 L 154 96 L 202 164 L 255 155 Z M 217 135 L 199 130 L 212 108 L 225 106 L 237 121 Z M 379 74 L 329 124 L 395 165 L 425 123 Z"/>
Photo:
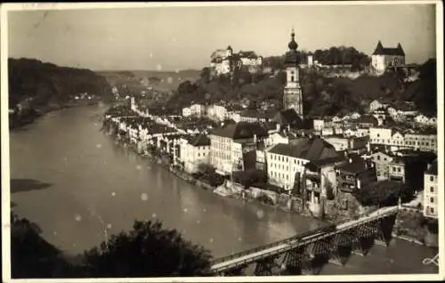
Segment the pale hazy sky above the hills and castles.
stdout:
<path fill-rule="evenodd" d="M 9 55 L 88 69 L 201 69 L 215 49 L 263 56 L 336 45 L 372 53 L 401 43 L 407 62 L 435 57 L 427 4 L 154 7 L 9 12 Z"/>

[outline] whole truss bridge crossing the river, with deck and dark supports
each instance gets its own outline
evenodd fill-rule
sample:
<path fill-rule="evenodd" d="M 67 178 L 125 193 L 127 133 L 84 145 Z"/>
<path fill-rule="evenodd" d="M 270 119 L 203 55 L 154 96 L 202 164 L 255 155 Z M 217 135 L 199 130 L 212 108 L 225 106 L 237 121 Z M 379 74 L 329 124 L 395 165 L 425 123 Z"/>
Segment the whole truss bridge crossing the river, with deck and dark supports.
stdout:
<path fill-rule="evenodd" d="M 376 242 L 388 246 L 397 206 L 360 215 L 357 219 L 332 223 L 294 237 L 214 260 L 216 276 L 241 275 L 255 264 L 254 275 L 318 274 L 324 263 L 344 265 L 351 254 L 366 255 Z M 318 270 L 318 271 L 317 271 Z"/>

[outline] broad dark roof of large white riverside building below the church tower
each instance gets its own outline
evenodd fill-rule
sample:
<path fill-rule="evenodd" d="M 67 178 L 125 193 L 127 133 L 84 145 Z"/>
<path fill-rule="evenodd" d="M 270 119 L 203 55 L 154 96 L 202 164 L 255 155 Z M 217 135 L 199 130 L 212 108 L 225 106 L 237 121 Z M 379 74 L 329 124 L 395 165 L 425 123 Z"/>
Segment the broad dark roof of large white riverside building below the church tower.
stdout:
<path fill-rule="evenodd" d="M 291 144 L 279 143 L 275 145 L 270 152 L 311 161 L 338 157 L 336 149 L 319 137 L 300 138 Z"/>

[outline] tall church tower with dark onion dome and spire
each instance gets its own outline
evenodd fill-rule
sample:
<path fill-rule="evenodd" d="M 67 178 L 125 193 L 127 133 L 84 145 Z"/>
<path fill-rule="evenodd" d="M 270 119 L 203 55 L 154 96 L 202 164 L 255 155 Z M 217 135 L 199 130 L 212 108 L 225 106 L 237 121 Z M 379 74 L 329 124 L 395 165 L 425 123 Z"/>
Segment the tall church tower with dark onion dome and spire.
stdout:
<path fill-rule="evenodd" d="M 295 33 L 292 30 L 289 51 L 286 53 L 286 86 L 283 93 L 283 109 L 294 109 L 296 114 L 303 119 L 303 99 L 300 86 L 299 54 L 296 52 L 298 44 L 295 42 Z"/>

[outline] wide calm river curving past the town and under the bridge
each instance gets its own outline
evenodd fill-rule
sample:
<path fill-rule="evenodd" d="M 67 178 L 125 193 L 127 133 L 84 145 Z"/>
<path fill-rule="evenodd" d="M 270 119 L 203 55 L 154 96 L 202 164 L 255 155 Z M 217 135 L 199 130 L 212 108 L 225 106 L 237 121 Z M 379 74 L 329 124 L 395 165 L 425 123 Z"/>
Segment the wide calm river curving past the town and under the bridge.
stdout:
<path fill-rule="evenodd" d="M 101 132 L 105 106 L 50 112 L 10 133 L 11 199 L 20 217 L 68 254 L 97 246 L 134 220 L 159 220 L 214 257 L 261 246 L 320 225 L 271 206 L 194 187 Z M 435 250 L 402 240 L 352 255 L 322 274 L 431 273 Z M 409 261 L 407 261 L 407 255 Z"/>

